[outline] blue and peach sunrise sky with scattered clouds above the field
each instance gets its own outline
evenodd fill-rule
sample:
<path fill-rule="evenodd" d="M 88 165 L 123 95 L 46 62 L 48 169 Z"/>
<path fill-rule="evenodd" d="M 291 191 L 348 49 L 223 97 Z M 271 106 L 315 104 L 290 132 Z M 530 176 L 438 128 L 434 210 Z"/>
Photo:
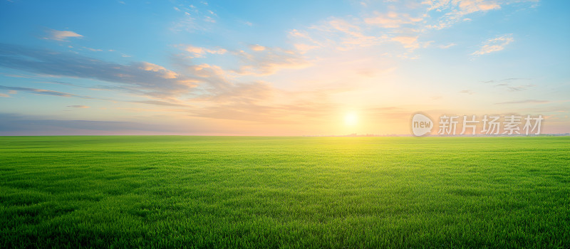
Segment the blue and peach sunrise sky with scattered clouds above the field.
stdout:
<path fill-rule="evenodd" d="M 418 112 L 567 133 L 568 9 L 0 0 L 0 135 L 410 134 Z"/>

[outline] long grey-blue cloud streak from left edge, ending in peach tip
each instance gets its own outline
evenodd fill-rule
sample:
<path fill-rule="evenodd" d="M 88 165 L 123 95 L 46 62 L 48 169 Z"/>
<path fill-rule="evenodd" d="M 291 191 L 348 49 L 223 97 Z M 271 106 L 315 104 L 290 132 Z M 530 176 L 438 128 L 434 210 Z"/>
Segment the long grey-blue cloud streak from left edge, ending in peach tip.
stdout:
<path fill-rule="evenodd" d="M 103 80 L 151 97 L 182 95 L 201 82 L 192 75 L 175 73 L 147 62 L 122 65 L 75 53 L 4 43 L 0 43 L 0 67 L 41 75 Z"/>

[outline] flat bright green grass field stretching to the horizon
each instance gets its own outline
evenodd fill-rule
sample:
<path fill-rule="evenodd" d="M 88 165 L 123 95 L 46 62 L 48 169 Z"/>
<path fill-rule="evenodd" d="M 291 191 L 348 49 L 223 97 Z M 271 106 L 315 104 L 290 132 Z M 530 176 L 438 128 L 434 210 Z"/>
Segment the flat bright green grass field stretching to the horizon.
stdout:
<path fill-rule="evenodd" d="M 569 248 L 570 137 L 0 137 L 0 248 Z"/>

